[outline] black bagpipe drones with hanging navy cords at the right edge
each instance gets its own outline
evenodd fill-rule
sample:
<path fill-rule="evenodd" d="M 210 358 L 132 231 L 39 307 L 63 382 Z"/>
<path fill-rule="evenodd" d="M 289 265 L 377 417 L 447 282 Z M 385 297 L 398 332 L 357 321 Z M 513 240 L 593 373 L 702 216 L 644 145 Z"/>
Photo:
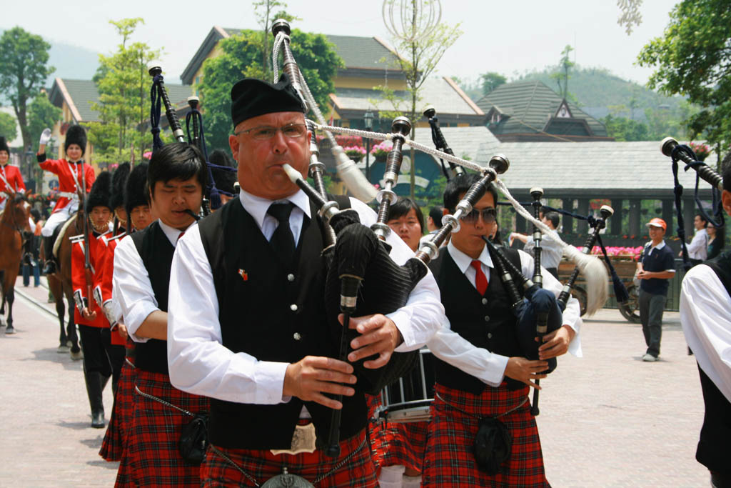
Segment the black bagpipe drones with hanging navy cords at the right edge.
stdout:
<path fill-rule="evenodd" d="M 695 151 L 690 146 L 685 144 L 678 144 L 678 141 L 673 138 L 664 138 L 660 143 L 660 151 L 667 157 L 673 159 L 673 179 L 675 180 L 675 211 L 678 217 L 678 228 L 676 232 L 678 238 L 681 241 L 681 249 L 683 255 L 683 267 L 686 269 L 691 268 L 692 263 L 688 258 L 688 248 L 686 247 L 686 233 L 685 233 L 685 222 L 683 219 L 682 200 L 683 196 L 683 185 L 678 181 L 678 161 L 686 163 L 685 170 L 694 169 L 696 171 L 695 179 L 695 194 L 694 200 L 697 205 L 698 211 L 702 214 L 706 222 L 710 222 L 715 228 L 724 227 L 724 210 L 721 203 L 721 192 L 724 190 L 724 179 L 723 176 L 716 173 L 710 166 L 706 165 L 705 162 L 699 161 L 695 155 Z M 713 219 L 703 209 L 698 198 L 698 184 L 700 179 L 711 184 L 712 195 L 713 195 L 713 216 L 717 218 Z"/>

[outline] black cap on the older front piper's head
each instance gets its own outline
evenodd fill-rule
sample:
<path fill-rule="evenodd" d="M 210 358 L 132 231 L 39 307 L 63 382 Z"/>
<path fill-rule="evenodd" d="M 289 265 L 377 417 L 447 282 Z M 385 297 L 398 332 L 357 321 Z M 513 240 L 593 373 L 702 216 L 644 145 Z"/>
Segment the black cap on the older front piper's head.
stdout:
<path fill-rule="evenodd" d="M 304 105 L 287 75 L 277 83 L 257 78 L 244 78 L 231 89 L 231 119 L 233 127 L 241 122 L 275 112 L 305 113 Z"/>

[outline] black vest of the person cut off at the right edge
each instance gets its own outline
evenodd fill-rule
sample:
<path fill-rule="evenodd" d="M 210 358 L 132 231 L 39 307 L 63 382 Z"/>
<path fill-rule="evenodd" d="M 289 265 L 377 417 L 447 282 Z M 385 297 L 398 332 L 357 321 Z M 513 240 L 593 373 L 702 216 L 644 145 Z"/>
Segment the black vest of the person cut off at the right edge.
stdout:
<path fill-rule="evenodd" d="M 731 253 L 724 252 L 704 264 L 716 272 L 716 276 L 731 295 Z M 729 439 L 731 439 L 731 402 L 724 397 L 724 394 L 700 369 L 700 366 L 698 371 L 705 403 L 705 415 L 695 459 L 711 471 L 731 473 L 728 455 Z"/>

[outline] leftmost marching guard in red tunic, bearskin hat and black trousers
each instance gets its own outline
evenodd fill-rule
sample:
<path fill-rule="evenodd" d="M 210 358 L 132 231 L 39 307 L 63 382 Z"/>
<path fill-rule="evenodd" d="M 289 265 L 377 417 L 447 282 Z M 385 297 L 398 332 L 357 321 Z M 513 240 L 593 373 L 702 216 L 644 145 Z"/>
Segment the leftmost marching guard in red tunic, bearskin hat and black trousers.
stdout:
<path fill-rule="evenodd" d="M 81 348 L 84 353 L 84 379 L 86 392 L 91 406 L 91 427 L 105 427 L 104 402 L 102 391 L 109 378 L 112 378 L 112 390 L 115 390 L 124 348 L 111 343 L 109 323 L 102 309 L 89 296 L 99 271 L 99 258 L 102 244 L 99 240 L 110 233 L 109 195 L 111 173 L 105 171 L 94 181 L 94 185 L 86 199 L 86 214 L 89 219 L 89 233 L 72 239 L 71 248 L 71 282 L 76 309 L 75 323 L 79 326 Z M 84 241 L 87 241 L 86 244 Z M 87 258 L 90 273 L 87 273 Z M 92 291 L 93 293 L 93 291 Z"/>

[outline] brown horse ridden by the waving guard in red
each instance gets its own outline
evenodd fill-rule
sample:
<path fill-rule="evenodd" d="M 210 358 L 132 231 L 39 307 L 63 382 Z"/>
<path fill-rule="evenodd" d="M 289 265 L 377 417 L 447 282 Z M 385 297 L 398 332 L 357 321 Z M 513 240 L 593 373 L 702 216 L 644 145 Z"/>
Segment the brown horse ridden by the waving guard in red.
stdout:
<path fill-rule="evenodd" d="M 53 299 L 56 300 L 56 314 L 58 315 L 58 326 L 61 329 L 61 334 L 58 337 L 58 352 L 65 353 L 71 350 L 71 359 L 78 361 L 82 359 L 81 349 L 79 348 L 78 334 L 76 333 L 76 324 L 74 322 L 74 297 L 73 288 L 71 284 L 71 236 L 77 236 L 83 234 L 83 212 L 78 211 L 75 216 L 71 217 L 74 219 L 73 222 L 69 222 L 66 226 L 61 224 L 61 233 L 56 237 L 58 242 L 58 268 L 56 273 L 49 275 L 48 278 L 48 289 L 50 293 L 53 293 Z M 69 220 L 71 220 L 69 219 Z M 68 220 L 67 220 L 68 222 Z M 41 249 L 40 255 L 45 255 L 43 249 Z M 64 297 L 66 298 L 69 310 L 69 320 L 64 328 L 64 316 L 66 315 L 66 305 L 64 304 Z"/>

